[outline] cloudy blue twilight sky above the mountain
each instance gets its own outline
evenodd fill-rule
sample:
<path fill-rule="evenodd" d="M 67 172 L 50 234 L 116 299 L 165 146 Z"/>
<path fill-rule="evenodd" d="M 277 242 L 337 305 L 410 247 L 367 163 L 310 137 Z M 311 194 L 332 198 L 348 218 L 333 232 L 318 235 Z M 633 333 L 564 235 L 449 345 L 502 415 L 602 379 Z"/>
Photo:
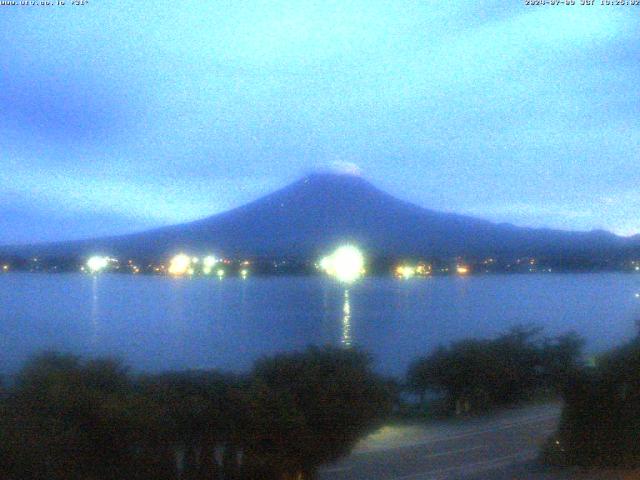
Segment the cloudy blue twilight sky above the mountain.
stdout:
<path fill-rule="evenodd" d="M 0 244 L 194 220 L 326 169 L 640 233 L 640 6 L 576 3 L 0 6 Z"/>

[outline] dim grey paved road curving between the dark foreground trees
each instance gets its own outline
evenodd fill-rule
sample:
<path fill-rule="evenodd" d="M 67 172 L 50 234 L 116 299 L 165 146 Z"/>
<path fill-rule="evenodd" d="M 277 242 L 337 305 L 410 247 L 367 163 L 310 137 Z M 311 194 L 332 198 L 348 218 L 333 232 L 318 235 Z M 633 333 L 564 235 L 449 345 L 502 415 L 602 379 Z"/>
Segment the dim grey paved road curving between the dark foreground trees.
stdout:
<path fill-rule="evenodd" d="M 534 478 L 530 463 L 559 415 L 560 405 L 548 404 L 485 418 L 387 426 L 360 442 L 351 456 L 324 468 L 320 479 Z"/>

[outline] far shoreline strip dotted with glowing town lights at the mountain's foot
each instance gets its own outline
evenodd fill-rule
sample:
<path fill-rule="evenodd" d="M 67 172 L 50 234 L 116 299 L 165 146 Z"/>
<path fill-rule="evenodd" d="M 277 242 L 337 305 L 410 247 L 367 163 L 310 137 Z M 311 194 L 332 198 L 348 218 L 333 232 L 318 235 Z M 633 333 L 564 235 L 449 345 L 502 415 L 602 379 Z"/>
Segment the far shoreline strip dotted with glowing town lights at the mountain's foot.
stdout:
<path fill-rule="evenodd" d="M 126 258 L 126 257 L 125 257 Z M 9 261 L 7 261 L 9 260 Z M 255 264 L 254 264 L 255 262 Z M 355 263 L 354 263 L 355 262 Z M 321 274 L 328 274 L 341 282 L 350 283 L 364 275 L 365 259 L 362 252 L 353 244 L 345 244 L 319 261 L 310 259 L 290 258 L 260 258 L 249 261 L 242 258 L 217 257 L 206 254 L 202 257 L 194 256 L 193 252 L 180 252 L 172 258 L 148 259 L 118 258 L 103 254 L 94 254 L 84 258 L 59 259 L 32 257 L 28 259 L 2 258 L 0 259 L 0 274 L 11 272 L 41 272 L 58 273 L 80 270 L 85 274 L 98 275 L 103 273 L 152 274 L 169 276 L 238 276 L 243 279 L 249 274 L 257 275 L 288 275 L 310 274 L 309 267 L 315 265 L 315 270 Z M 553 267 L 553 268 L 552 268 Z M 462 257 L 430 258 L 429 260 L 372 258 L 367 260 L 367 274 L 376 276 L 391 275 L 399 280 L 428 278 L 442 275 L 457 275 L 467 277 L 477 274 L 494 273 L 563 273 L 573 271 L 616 271 L 640 274 L 640 260 L 622 259 L 615 263 L 601 263 L 584 265 L 569 263 L 554 263 L 553 260 L 533 257 L 519 257 L 516 259 L 465 259 Z"/>

